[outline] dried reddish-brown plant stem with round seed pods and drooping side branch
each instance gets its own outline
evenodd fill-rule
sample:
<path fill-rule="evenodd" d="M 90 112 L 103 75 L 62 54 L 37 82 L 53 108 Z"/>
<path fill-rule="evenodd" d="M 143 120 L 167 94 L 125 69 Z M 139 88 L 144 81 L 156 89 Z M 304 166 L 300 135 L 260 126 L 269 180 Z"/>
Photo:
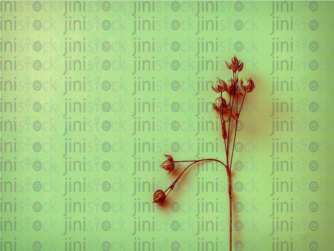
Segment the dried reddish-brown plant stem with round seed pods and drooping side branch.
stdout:
<path fill-rule="evenodd" d="M 174 161 L 173 157 L 170 155 L 165 155 L 166 157 L 163 159 L 162 164 L 160 165 L 163 169 L 169 171 L 168 173 L 172 172 L 175 167 L 175 163 L 177 162 L 191 162 L 179 175 L 179 177 L 165 190 L 156 190 L 153 194 L 153 203 L 162 203 L 167 198 L 169 192 L 173 190 L 176 182 L 180 179 L 182 174 L 194 164 L 200 161 L 217 161 L 225 166 L 228 178 L 228 196 L 229 196 L 229 250 L 232 251 L 232 193 L 231 193 L 231 166 L 232 166 L 232 159 L 233 159 L 233 151 L 234 151 L 234 143 L 235 137 L 237 134 L 237 126 L 238 120 L 240 116 L 240 112 L 243 108 L 243 101 L 247 93 L 250 93 L 254 90 L 255 85 L 252 78 L 243 81 L 242 79 L 239 80 L 239 72 L 243 70 L 243 62 L 238 60 L 235 56 L 232 57 L 228 62 L 226 62 L 226 66 L 229 70 L 232 70 L 233 76 L 229 78 L 226 82 L 222 79 L 219 79 L 215 82 L 212 89 L 214 92 L 219 94 L 213 102 L 213 110 L 216 110 L 220 115 L 220 123 L 222 126 L 222 137 L 225 142 L 225 152 L 226 152 L 226 164 L 218 159 L 213 158 L 205 158 L 205 159 L 198 159 L 198 160 L 179 160 Z M 229 102 L 227 103 L 225 98 L 223 97 L 223 93 L 226 92 L 229 95 Z M 238 96 L 242 96 L 242 103 L 239 107 L 238 103 Z M 234 104 L 234 100 L 236 103 Z M 227 119 L 225 119 L 227 117 Z M 235 122 L 234 127 L 234 139 L 233 139 L 233 146 L 230 149 L 230 142 L 232 133 L 233 133 L 233 126 L 231 126 L 231 120 Z M 228 128 L 227 128 L 228 124 Z M 168 191 L 168 192 L 167 192 Z M 166 194 L 167 192 L 167 194 Z"/>

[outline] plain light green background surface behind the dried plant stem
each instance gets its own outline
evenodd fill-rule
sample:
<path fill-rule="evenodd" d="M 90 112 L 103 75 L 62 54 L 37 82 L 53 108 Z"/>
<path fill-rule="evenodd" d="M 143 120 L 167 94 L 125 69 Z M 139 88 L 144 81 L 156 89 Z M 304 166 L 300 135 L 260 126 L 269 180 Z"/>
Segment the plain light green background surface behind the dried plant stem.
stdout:
<path fill-rule="evenodd" d="M 291 245 L 294 251 L 317 250 L 316 247 L 318 250 L 333 250 L 333 1 L 145 1 L 145 9 L 143 9 L 144 1 L 85 1 L 85 10 L 84 2 L 78 1 L 75 12 L 74 3 L 74 1 L 66 2 L 65 14 L 65 1 L 1 1 L 1 248 L 3 251 L 10 250 L 10 243 L 13 245 L 12 250 L 15 243 L 17 251 L 38 250 L 36 241 L 41 243 L 43 250 L 57 251 L 65 250 L 66 244 L 67 250 L 73 251 L 75 241 L 81 243 L 81 250 L 84 250 L 85 244 L 86 251 L 108 250 L 107 243 L 103 246 L 105 241 L 109 242 L 110 250 L 147 251 L 153 250 L 153 247 L 155 251 L 228 250 L 227 178 L 221 166 L 214 166 L 213 170 L 210 164 L 208 169 L 205 164 L 203 169 L 201 165 L 194 166 L 180 180 L 179 190 L 175 189 L 177 191 L 172 191 L 168 195 L 167 204 L 164 206 L 152 204 L 152 195 L 156 189 L 165 190 L 177 178 L 177 174 L 174 173 L 180 173 L 186 167 L 177 166 L 179 170 L 167 176 L 167 172 L 159 167 L 163 154 L 173 156 L 174 160 L 219 158 L 225 162 L 224 147 L 221 147 L 223 146 L 221 132 L 215 126 L 217 113 L 211 105 L 217 94 L 211 90 L 211 84 L 218 77 L 224 80 L 232 77 L 231 71 L 226 68 L 225 60 L 234 55 L 244 62 L 239 78 L 243 77 L 244 80 L 252 77 L 256 88 L 251 94 L 247 94 L 243 105 L 240 117 L 243 126 L 240 127 L 236 139 L 239 148 L 236 148 L 233 158 L 233 163 L 238 165 L 232 164 L 232 184 L 239 184 L 239 187 L 232 188 L 233 205 L 237 202 L 239 206 L 243 205 L 238 209 L 240 212 L 233 209 L 233 250 L 292 250 Z M 34 24 L 35 20 L 41 21 L 40 29 L 38 23 Z M 76 26 L 76 31 L 73 31 L 73 20 L 82 22 L 81 30 Z M 105 20 L 110 22 L 110 26 L 105 23 L 104 29 Z M 140 30 L 138 20 L 140 20 Z M 149 22 L 146 21 L 145 30 L 143 30 L 144 20 L 149 20 L 151 25 L 149 28 Z M 172 29 L 171 24 L 174 20 L 179 21 L 180 26 L 176 26 L 177 29 L 175 27 Z M 241 24 L 238 20 L 242 22 L 242 27 L 238 26 Z M 198 34 L 197 21 L 200 24 Z M 41 43 L 40 50 L 37 48 L 38 43 L 34 44 L 36 41 Z M 47 44 L 50 41 L 52 47 Z M 82 46 L 85 41 L 85 51 L 82 47 L 81 51 L 70 52 L 69 41 L 72 43 L 79 41 Z M 105 41 L 111 46 L 106 51 L 102 47 Z M 140 41 L 140 51 L 138 51 L 138 41 Z M 145 51 L 142 49 L 144 41 L 149 41 L 151 45 L 149 49 L 146 44 Z M 180 47 L 172 47 L 174 41 L 177 41 Z M 200 50 L 197 55 L 198 41 L 200 49 L 201 42 L 204 42 L 204 50 Z M 274 54 L 272 54 L 273 41 Z M 278 51 L 276 51 L 277 41 Z M 288 50 L 287 43 L 283 44 L 281 49 L 281 42 L 284 41 L 288 42 Z M 11 42 L 12 49 L 10 43 L 6 42 Z M 65 42 L 68 46 L 66 55 Z M 212 42 L 213 50 L 211 43 L 208 50 L 206 49 L 207 42 Z M 42 63 L 40 69 L 33 68 L 36 60 Z M 52 66 L 50 66 L 51 60 L 54 63 Z M 72 70 L 69 71 L 68 66 L 68 71 L 64 74 L 66 60 L 67 62 L 80 60 L 81 63 L 85 61 L 86 69 L 74 71 L 72 65 Z M 111 64 L 109 69 L 102 67 L 105 60 Z M 141 63 L 140 70 L 138 60 Z M 143 70 L 142 64 L 145 60 L 151 62 L 150 70 L 147 68 L 147 63 Z M 172 68 L 174 60 L 180 63 L 179 69 Z M 204 70 L 200 70 L 197 74 L 197 63 L 201 65 L 202 60 Z M 206 70 L 206 61 L 209 60 L 214 62 L 213 70 L 211 63 Z M 275 67 L 278 60 L 278 70 L 275 68 L 272 74 L 273 60 Z M 12 70 L 9 61 L 13 64 Z M 135 61 L 137 70 L 133 74 Z M 283 62 L 281 68 L 282 61 L 288 62 L 288 70 L 287 62 Z M 51 78 L 54 83 L 52 87 L 49 85 Z M 278 91 L 275 89 L 274 92 L 273 79 L 279 81 Z M 42 84 L 39 90 L 34 84 L 36 80 Z M 81 82 L 86 80 L 86 90 L 76 89 L 64 94 L 65 81 L 69 80 Z M 106 80 L 111 85 L 109 90 L 103 89 L 103 82 Z M 145 90 L 141 86 L 139 91 L 137 87 L 137 92 L 134 93 L 134 83 L 137 81 L 138 86 L 139 80 L 141 84 L 142 81 L 150 81 L 151 89 L 148 90 L 146 84 Z M 173 82 L 175 80 L 179 84 Z M 203 89 L 200 85 L 200 90 L 197 92 L 197 81 L 202 84 L 202 80 Z M 284 80 L 289 83 L 288 89 L 285 84 L 281 89 L 280 81 Z M 9 82 L 6 84 L 5 81 L 12 82 L 12 90 L 9 88 Z M 273 101 L 275 101 L 274 119 Z M 12 111 L 8 102 L 13 105 Z M 38 112 L 33 110 L 36 108 L 35 102 L 41 103 L 42 110 Z M 51 102 L 54 104 L 53 108 L 49 106 Z M 82 111 L 71 112 L 64 116 L 65 106 L 69 102 L 72 102 L 72 106 L 73 102 L 81 102 Z M 105 110 L 108 107 L 105 102 L 110 106 L 109 111 Z M 140 112 L 138 102 L 141 106 Z M 150 102 L 150 111 L 147 104 L 146 110 L 142 110 L 143 102 Z M 276 102 L 279 112 L 276 111 Z M 281 110 L 282 102 L 288 103 L 288 112 L 284 110 L 287 104 L 283 104 L 284 109 Z M 134 115 L 135 104 L 137 113 Z M 198 104 L 200 108 L 204 104 L 208 110 L 205 109 L 204 112 L 200 110 L 197 114 Z M 51 125 L 54 126 L 50 126 L 51 120 Z M 68 131 L 64 135 L 65 121 L 70 123 L 70 120 L 79 120 L 81 123 L 85 121 L 86 130 L 82 128 L 81 131 Z M 12 122 L 12 129 L 10 123 L 6 124 L 6 121 Z M 41 129 L 38 130 L 33 126 L 35 121 L 41 122 Z M 110 122 L 109 130 L 103 129 L 104 121 Z M 150 122 L 150 130 L 148 127 L 142 130 L 143 121 Z M 180 124 L 179 129 L 175 121 Z M 204 121 L 204 130 L 197 135 L 198 121 L 200 125 Z M 214 130 L 211 126 L 206 129 L 207 121 L 213 122 Z M 273 121 L 275 123 L 278 121 L 280 126 L 279 131 L 275 131 L 274 134 L 272 134 Z M 282 121 L 288 122 L 288 130 L 286 124 L 283 124 L 281 130 Z M 138 122 L 141 123 L 140 131 Z M 134 133 L 135 124 L 136 133 Z M 146 123 L 145 126 L 147 125 Z M 86 152 L 82 150 L 64 156 L 66 142 L 70 141 L 82 144 L 85 141 Z M 8 142 L 13 144 L 12 151 L 9 150 Z M 41 151 L 33 147 L 35 142 L 41 143 Z M 106 152 L 102 149 L 104 142 L 110 143 L 110 149 Z M 136 142 L 137 153 L 134 155 Z M 141 145 L 140 152 L 138 152 L 138 142 Z M 150 142 L 150 151 L 147 148 L 148 144 L 145 144 L 145 152 L 142 151 L 143 142 Z M 197 144 L 201 145 L 202 142 L 204 151 L 200 150 L 197 155 Z M 212 151 L 210 146 L 207 150 L 207 142 L 212 142 L 214 146 L 217 142 L 218 147 Z M 283 151 L 279 148 L 279 152 L 272 156 L 273 142 L 279 142 L 279 147 L 281 142 L 288 142 L 288 152 L 284 146 Z M 293 150 L 290 147 L 291 142 Z M 315 146 L 313 142 L 318 145 L 315 150 L 311 147 Z M 177 147 L 178 144 L 180 148 Z M 193 148 L 189 147 L 191 145 Z M 69 161 L 70 157 L 72 161 L 79 160 L 83 163 L 85 160 L 86 170 L 81 172 L 72 170 L 64 174 L 65 161 Z M 39 171 L 33 169 L 33 163 L 37 160 L 43 165 Z M 134 173 L 135 162 L 138 163 L 138 160 L 141 162 L 141 169 L 140 171 L 137 169 Z M 278 160 L 279 163 L 288 161 L 289 170 L 279 169 L 272 174 L 273 160 Z M 6 170 L 4 169 L 6 161 L 13 163 L 12 170 L 8 166 Z M 52 168 L 49 165 L 50 161 L 54 163 Z M 109 161 L 112 165 L 107 171 L 102 166 L 104 161 Z M 150 170 L 148 166 L 145 170 L 142 169 L 143 161 L 151 163 Z M 293 161 L 293 168 L 290 166 L 290 161 Z M 6 164 L 9 165 L 9 162 Z M 68 190 L 64 195 L 65 182 L 69 182 L 70 178 L 72 183 L 80 181 L 82 189 L 85 181 L 86 191 Z M 272 195 L 273 180 L 279 182 L 279 190 L 275 190 Z M 33 189 L 36 181 L 42 185 L 40 191 Z M 54 185 L 52 188 L 50 181 Z M 103 190 L 105 181 L 110 183 L 108 191 Z M 12 191 L 9 182 L 13 185 Z M 288 183 L 288 191 L 286 183 L 282 183 L 281 190 L 281 182 Z M 199 193 L 197 193 L 198 186 Z M 276 183 L 274 186 L 276 189 Z M 73 212 L 72 209 L 72 212 L 67 212 L 64 216 L 65 203 L 69 203 L 70 199 L 72 203 L 80 202 L 82 211 Z M 51 200 L 54 205 L 52 211 L 48 204 Z M 34 210 L 35 202 L 42 205 L 42 210 L 39 212 Z M 84 202 L 85 212 L 83 212 Z M 104 202 L 108 202 L 111 206 L 108 212 L 102 210 Z M 273 202 L 279 203 L 279 211 L 274 215 L 272 215 Z M 284 202 L 288 202 L 288 212 L 285 209 L 286 204 L 281 211 L 281 203 Z M 317 210 L 311 210 L 310 204 L 315 205 L 313 202 L 317 203 Z M 9 203 L 13 206 L 12 210 Z M 209 210 L 206 210 L 207 204 Z M 198 205 L 199 214 L 197 214 Z M 33 229 L 36 220 L 42 224 L 39 231 Z M 69 231 L 69 220 L 72 221 L 71 231 Z M 74 231 L 74 220 L 81 222 L 81 231 L 77 229 Z M 103 229 L 103 222 L 106 220 L 111 225 L 107 231 Z M 278 231 L 276 220 L 278 220 Z M 150 222 L 150 229 L 147 221 Z M 237 221 L 242 222 L 242 229 L 237 229 L 234 225 Z M 64 235 L 66 222 L 67 234 Z M 207 222 L 209 222 L 208 229 Z M 12 230 L 10 230 L 11 224 Z M 136 233 L 135 224 L 137 224 Z M 288 249 L 284 243 L 281 249 L 282 242 L 288 243 Z M 78 243 L 76 250 L 79 250 Z"/>

